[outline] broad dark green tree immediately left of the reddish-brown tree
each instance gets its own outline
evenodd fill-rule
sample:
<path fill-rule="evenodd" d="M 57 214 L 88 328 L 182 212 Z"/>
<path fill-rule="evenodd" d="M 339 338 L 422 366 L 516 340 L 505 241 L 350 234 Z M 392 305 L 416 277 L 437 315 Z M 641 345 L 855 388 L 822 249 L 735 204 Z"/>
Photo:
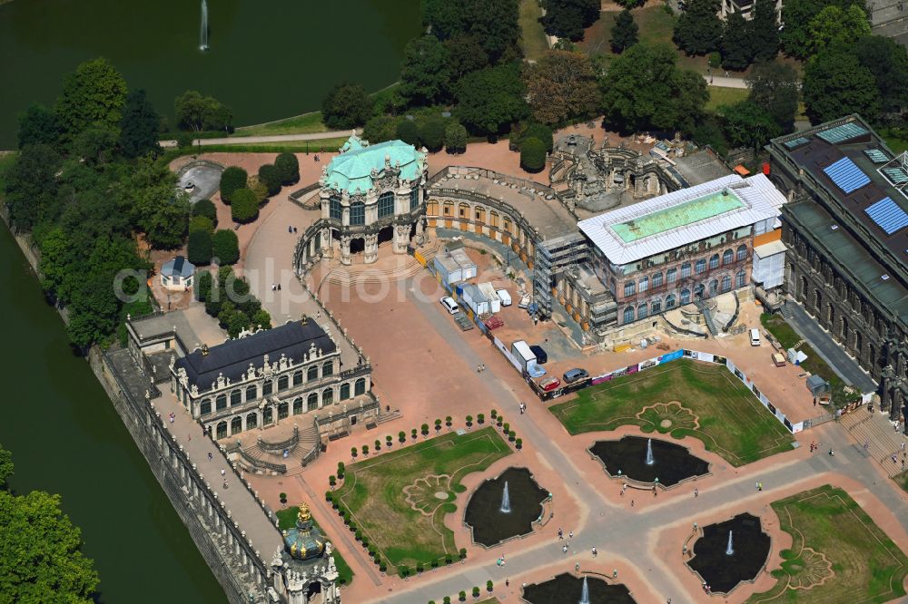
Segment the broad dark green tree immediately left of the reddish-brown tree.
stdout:
<path fill-rule="evenodd" d="M 460 123 L 476 134 L 497 136 L 528 114 L 526 90 L 517 65 L 499 65 L 467 74 L 459 83 Z"/>

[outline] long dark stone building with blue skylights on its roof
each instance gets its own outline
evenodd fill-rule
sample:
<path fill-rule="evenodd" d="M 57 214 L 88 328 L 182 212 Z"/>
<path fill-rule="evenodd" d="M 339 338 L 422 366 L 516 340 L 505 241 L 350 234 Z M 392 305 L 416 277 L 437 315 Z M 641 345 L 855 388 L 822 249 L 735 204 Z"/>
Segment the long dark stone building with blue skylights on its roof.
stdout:
<path fill-rule="evenodd" d="M 787 295 L 879 385 L 883 410 L 908 402 L 908 154 L 858 115 L 770 142 L 785 192 Z"/>

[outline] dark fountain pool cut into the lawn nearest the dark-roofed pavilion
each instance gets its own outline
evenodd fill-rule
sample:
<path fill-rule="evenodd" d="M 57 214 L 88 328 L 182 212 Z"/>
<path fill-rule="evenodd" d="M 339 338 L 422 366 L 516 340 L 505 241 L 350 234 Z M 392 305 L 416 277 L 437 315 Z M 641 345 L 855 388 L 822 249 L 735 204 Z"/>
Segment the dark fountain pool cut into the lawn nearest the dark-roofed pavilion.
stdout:
<path fill-rule="evenodd" d="M 508 468 L 473 492 L 464 521 L 473 530 L 473 541 L 487 547 L 497 545 L 533 531 L 533 521 L 541 516 L 547 498 L 548 491 L 533 480 L 528 469 Z"/>

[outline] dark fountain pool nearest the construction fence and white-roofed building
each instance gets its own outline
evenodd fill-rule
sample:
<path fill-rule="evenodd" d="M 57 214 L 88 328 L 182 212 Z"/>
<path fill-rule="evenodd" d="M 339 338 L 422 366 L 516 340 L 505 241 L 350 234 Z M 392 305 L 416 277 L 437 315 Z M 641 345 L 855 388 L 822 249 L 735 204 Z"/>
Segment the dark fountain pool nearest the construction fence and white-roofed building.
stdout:
<path fill-rule="evenodd" d="M 709 473 L 709 463 L 676 443 L 625 436 L 619 441 L 597 441 L 589 448 L 611 476 L 636 482 L 656 482 L 666 487 Z"/>

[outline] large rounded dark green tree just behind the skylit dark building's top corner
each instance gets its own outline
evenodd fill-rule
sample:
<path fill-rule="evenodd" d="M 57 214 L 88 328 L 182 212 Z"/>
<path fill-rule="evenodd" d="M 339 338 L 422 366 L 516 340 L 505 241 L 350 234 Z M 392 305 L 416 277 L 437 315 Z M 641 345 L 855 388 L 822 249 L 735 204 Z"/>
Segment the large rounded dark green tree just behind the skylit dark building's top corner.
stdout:
<path fill-rule="evenodd" d="M 810 122 L 860 113 L 873 121 L 880 111 L 880 93 L 873 73 L 849 50 L 827 50 L 804 68 L 804 106 Z"/>

